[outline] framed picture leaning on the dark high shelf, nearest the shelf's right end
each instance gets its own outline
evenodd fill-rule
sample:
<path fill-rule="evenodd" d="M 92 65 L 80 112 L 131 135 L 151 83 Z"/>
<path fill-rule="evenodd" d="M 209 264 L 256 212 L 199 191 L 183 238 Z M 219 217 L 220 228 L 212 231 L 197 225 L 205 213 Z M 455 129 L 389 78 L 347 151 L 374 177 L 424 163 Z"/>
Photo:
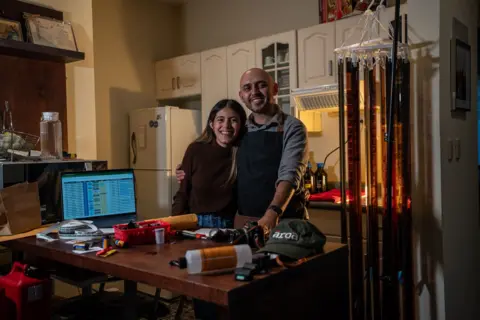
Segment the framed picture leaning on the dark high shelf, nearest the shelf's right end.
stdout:
<path fill-rule="evenodd" d="M 49 17 L 24 13 L 30 42 L 57 49 L 78 51 L 71 23 Z"/>

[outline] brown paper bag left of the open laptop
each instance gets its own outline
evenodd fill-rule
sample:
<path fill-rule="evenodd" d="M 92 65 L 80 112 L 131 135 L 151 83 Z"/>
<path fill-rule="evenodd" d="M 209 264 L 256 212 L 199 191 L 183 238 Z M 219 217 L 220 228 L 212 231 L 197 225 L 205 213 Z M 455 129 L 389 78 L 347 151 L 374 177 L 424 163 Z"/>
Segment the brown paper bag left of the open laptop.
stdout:
<path fill-rule="evenodd" d="M 19 183 L 0 190 L 0 236 L 27 232 L 41 225 L 36 182 Z"/>

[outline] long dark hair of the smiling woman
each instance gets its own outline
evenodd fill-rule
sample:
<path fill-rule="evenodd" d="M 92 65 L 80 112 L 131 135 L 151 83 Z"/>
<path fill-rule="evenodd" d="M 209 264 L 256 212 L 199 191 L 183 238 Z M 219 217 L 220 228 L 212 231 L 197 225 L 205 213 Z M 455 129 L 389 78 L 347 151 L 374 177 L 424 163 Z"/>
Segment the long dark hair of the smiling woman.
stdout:
<path fill-rule="evenodd" d="M 232 99 L 222 99 L 218 101 L 210 111 L 210 114 L 208 115 L 208 121 L 205 126 L 205 129 L 203 129 L 202 134 L 200 137 L 198 137 L 196 142 L 202 142 L 202 143 L 212 143 L 215 141 L 215 132 L 213 132 L 213 129 L 211 127 L 211 124 L 215 120 L 215 117 L 217 116 L 217 113 L 225 108 L 230 108 L 232 109 L 236 114 L 238 114 L 238 117 L 240 118 L 240 132 L 233 142 L 233 147 L 232 147 L 232 168 L 230 170 L 230 175 L 228 177 L 227 183 L 233 183 L 235 179 L 237 178 L 237 151 L 238 151 L 238 144 L 240 140 L 242 139 L 243 135 L 245 134 L 245 131 L 247 130 L 246 123 L 247 123 L 247 113 L 245 112 L 245 109 L 243 109 L 242 105 L 238 103 L 236 100 Z"/>

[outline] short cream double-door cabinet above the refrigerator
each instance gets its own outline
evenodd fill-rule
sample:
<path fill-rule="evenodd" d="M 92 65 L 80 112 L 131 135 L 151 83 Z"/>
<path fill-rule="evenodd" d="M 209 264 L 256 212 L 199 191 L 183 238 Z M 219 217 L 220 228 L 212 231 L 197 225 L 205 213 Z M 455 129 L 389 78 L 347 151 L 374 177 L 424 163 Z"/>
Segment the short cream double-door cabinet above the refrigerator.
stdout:
<path fill-rule="evenodd" d="M 155 63 L 157 99 L 201 93 L 200 54 L 194 53 Z"/>

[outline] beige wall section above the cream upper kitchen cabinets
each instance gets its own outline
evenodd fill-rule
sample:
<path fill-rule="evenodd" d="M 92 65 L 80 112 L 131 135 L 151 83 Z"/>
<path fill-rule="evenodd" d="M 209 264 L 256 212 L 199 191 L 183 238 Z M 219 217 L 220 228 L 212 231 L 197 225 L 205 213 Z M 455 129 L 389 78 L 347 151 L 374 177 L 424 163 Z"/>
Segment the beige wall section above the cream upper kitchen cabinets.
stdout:
<path fill-rule="evenodd" d="M 191 0 L 182 12 L 183 50 L 213 49 L 318 21 L 318 0 Z"/>

